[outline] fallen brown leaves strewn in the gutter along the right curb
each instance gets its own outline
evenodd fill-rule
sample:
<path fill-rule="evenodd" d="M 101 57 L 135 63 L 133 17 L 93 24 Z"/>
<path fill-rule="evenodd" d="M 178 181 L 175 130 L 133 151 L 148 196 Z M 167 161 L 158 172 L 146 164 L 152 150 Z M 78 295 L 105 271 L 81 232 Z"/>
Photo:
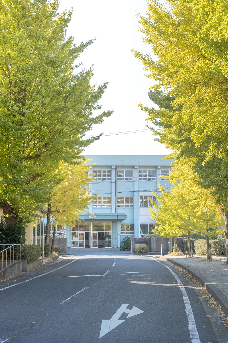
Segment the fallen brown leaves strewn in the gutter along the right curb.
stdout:
<path fill-rule="evenodd" d="M 166 261 L 167 262 L 167 261 Z M 170 262 L 167 262 L 167 263 L 170 263 Z M 198 289 L 201 289 L 201 292 L 200 293 L 203 293 L 204 295 L 202 295 L 202 297 L 199 297 L 200 299 L 203 299 L 203 300 L 209 300 L 209 302 L 207 303 L 207 306 L 210 306 L 210 307 L 213 307 L 214 309 L 216 310 L 219 310 L 220 313 L 214 313 L 214 317 L 222 317 L 223 318 L 223 321 L 224 321 L 224 327 L 225 328 L 228 328 L 228 317 L 226 317 L 225 313 L 223 312 L 222 310 L 222 306 L 219 306 L 219 304 L 217 303 L 217 301 L 213 298 L 213 296 L 208 293 L 206 291 L 206 289 L 199 283 L 199 281 L 197 281 L 195 279 L 194 276 L 190 275 L 186 270 L 178 267 L 177 265 L 173 264 L 173 263 L 170 263 L 172 264 L 172 266 L 174 268 L 176 268 L 178 270 L 179 273 L 181 273 L 184 278 L 188 281 L 191 281 L 191 282 L 194 282 L 196 284 L 197 287 L 192 287 L 192 288 L 198 288 Z M 226 324 L 226 325 L 225 325 Z"/>

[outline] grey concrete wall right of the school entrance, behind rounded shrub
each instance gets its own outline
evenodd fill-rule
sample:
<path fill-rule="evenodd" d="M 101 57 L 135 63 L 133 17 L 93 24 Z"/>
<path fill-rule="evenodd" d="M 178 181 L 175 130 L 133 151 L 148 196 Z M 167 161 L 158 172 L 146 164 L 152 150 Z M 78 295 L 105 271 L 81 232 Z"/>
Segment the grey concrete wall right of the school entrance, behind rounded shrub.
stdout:
<path fill-rule="evenodd" d="M 149 252 L 156 252 L 159 250 L 161 252 L 161 237 L 155 238 L 145 238 L 145 245 L 148 246 Z M 177 238 L 179 249 L 182 250 L 182 238 Z M 143 238 L 131 238 L 131 251 L 135 252 L 135 247 L 137 245 L 143 244 Z M 169 238 L 163 238 L 162 240 L 162 252 L 169 252 Z M 174 239 L 172 238 L 172 247 L 174 246 Z"/>

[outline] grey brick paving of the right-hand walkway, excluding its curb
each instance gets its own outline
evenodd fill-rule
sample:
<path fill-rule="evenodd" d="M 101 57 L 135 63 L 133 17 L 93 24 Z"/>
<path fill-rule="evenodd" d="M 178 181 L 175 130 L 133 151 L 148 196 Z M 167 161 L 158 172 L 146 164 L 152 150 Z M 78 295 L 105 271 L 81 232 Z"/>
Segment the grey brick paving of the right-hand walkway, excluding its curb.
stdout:
<path fill-rule="evenodd" d="M 162 259 L 174 260 L 186 266 L 186 257 L 163 256 Z M 201 261 L 200 258 L 188 258 L 187 267 L 198 275 L 204 276 L 216 288 L 228 298 L 228 264 L 225 264 L 224 257 L 214 257 L 222 261 Z"/>

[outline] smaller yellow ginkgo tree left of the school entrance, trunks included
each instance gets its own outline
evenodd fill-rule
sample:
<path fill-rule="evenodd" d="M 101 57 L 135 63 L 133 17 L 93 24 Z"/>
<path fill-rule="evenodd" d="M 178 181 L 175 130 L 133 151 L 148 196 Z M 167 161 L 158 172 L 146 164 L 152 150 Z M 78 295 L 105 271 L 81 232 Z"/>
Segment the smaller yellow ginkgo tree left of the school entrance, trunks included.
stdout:
<path fill-rule="evenodd" d="M 93 201 L 93 196 L 89 193 L 89 182 L 93 178 L 89 174 L 92 165 L 88 164 L 89 159 L 77 165 L 61 163 L 59 169 L 62 181 L 53 188 L 51 201 L 48 203 L 47 224 L 45 244 L 50 241 L 50 219 L 53 224 L 71 225 L 79 220 L 79 214 L 83 213 Z M 53 244 L 54 244 L 53 234 Z"/>

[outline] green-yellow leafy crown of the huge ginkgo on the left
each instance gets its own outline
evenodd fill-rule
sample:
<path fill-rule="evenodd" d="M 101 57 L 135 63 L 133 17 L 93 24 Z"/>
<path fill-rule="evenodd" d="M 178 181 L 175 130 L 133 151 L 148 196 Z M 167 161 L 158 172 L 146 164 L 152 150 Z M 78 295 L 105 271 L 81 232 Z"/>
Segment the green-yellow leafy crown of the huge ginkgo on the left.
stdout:
<path fill-rule="evenodd" d="M 93 40 L 66 37 L 72 12 L 57 0 L 0 1 L 0 206 L 9 223 L 30 222 L 62 179 L 59 162 L 76 165 L 93 125 L 112 111 L 98 104 L 107 82 L 75 63 Z"/>

